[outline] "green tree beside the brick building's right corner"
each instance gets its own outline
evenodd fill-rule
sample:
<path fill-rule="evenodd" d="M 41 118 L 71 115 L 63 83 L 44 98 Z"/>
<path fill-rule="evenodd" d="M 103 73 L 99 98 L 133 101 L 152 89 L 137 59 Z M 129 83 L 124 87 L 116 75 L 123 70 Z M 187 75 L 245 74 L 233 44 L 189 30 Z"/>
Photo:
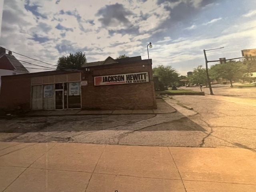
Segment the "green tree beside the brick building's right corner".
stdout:
<path fill-rule="evenodd" d="M 171 86 L 171 84 L 178 81 L 179 74 L 172 66 L 158 65 L 153 68 L 153 73 L 159 75 L 159 81 L 164 86 Z"/>

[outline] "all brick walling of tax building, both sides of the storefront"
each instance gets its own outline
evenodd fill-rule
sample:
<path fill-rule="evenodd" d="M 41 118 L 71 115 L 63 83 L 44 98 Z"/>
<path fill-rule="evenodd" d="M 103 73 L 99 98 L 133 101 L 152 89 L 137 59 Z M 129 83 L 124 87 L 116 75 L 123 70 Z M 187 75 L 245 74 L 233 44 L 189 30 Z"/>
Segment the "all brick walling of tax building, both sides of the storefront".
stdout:
<path fill-rule="evenodd" d="M 94 86 L 94 76 L 137 72 L 148 72 L 152 79 L 152 68 L 148 65 L 148 60 L 134 64 L 92 67 L 90 72 L 82 73 L 82 80 L 88 80 L 88 85 L 81 87 L 82 108 L 98 110 L 156 108 L 154 83 L 151 80 L 145 83 Z M 31 76 L 35 75 L 3 76 L 0 108 L 14 109 L 22 106 L 24 110 L 29 110 Z"/>

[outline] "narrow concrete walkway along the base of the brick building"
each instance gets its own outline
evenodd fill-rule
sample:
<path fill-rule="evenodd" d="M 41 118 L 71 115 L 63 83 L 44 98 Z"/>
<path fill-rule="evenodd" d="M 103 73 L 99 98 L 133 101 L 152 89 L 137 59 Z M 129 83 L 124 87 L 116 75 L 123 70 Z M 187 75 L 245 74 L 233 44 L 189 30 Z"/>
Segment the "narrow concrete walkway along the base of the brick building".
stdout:
<path fill-rule="evenodd" d="M 31 111 L 25 116 L 61 116 L 61 115 L 110 115 L 110 114 L 167 114 L 174 113 L 172 108 L 162 99 L 157 99 L 157 109 L 152 110 L 62 110 L 62 111 Z"/>

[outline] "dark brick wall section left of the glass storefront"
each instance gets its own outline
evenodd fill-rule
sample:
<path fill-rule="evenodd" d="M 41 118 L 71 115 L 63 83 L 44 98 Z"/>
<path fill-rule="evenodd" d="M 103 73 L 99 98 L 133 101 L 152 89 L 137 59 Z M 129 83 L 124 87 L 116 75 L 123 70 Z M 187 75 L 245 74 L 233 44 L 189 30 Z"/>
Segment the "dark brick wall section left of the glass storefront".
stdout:
<path fill-rule="evenodd" d="M 2 76 L 0 92 L 0 108 L 15 109 L 21 106 L 23 110 L 30 109 L 30 77 Z"/>

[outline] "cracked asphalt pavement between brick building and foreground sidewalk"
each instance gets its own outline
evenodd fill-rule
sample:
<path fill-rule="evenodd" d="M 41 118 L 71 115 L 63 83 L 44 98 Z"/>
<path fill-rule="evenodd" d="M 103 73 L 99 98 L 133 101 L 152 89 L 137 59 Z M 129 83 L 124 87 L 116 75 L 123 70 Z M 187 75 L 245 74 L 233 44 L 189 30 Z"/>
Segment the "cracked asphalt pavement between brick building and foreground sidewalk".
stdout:
<path fill-rule="evenodd" d="M 0 141 L 256 149 L 256 100 L 210 95 L 173 98 L 165 98 L 177 110 L 172 114 L 2 119 Z"/>

